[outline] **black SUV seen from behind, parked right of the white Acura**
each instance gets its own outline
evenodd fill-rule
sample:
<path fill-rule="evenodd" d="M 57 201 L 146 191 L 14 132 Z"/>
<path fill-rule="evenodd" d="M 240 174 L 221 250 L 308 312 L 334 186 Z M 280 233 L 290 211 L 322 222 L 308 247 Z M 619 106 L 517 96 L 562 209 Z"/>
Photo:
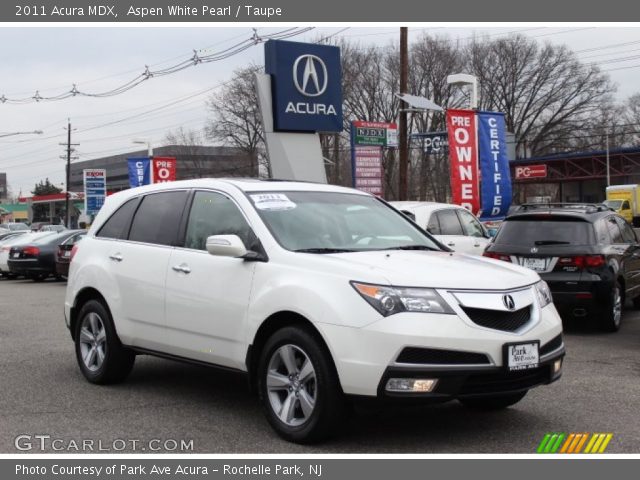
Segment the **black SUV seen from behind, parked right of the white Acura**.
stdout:
<path fill-rule="evenodd" d="M 614 332 L 626 298 L 640 308 L 640 243 L 603 205 L 523 205 L 484 255 L 537 271 L 563 319 L 590 319 Z"/>

